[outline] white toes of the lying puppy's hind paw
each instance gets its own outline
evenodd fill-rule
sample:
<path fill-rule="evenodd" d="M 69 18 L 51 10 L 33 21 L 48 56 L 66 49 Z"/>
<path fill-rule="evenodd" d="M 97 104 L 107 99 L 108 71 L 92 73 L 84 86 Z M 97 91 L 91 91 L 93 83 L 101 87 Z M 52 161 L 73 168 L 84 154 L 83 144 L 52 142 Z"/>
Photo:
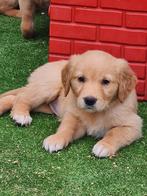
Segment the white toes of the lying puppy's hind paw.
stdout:
<path fill-rule="evenodd" d="M 32 118 L 29 115 L 11 115 L 12 119 L 17 123 L 20 124 L 21 126 L 27 126 L 30 125 L 32 122 Z"/>

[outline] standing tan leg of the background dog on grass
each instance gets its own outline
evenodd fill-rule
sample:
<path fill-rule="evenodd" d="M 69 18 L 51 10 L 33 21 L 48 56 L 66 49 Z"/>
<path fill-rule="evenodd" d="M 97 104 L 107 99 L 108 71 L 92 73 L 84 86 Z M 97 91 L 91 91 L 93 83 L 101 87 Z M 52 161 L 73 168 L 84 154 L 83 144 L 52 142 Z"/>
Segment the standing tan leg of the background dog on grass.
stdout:
<path fill-rule="evenodd" d="M 22 14 L 21 32 L 25 38 L 34 36 L 34 13 L 35 5 L 32 1 L 19 0 L 20 11 Z"/>

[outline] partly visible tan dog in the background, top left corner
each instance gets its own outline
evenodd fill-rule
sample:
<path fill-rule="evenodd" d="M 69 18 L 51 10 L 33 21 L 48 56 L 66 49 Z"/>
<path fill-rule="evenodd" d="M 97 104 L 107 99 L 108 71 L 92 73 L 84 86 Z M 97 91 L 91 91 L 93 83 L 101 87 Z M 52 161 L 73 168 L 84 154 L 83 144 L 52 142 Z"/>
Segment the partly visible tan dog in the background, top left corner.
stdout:
<path fill-rule="evenodd" d="M 47 10 L 48 7 L 49 0 L 0 0 L 0 13 L 7 16 L 22 17 L 21 32 L 25 38 L 31 38 L 34 35 L 36 9 Z"/>

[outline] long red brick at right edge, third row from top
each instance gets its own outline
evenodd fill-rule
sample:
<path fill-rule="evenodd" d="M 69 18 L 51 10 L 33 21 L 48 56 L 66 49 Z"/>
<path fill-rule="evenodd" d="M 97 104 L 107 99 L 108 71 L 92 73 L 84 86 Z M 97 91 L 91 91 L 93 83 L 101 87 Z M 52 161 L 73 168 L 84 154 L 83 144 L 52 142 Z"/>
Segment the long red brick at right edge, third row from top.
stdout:
<path fill-rule="evenodd" d="M 100 27 L 100 35 L 98 34 L 98 37 L 100 41 L 104 42 L 142 46 L 147 44 L 147 33 L 139 30 Z"/>

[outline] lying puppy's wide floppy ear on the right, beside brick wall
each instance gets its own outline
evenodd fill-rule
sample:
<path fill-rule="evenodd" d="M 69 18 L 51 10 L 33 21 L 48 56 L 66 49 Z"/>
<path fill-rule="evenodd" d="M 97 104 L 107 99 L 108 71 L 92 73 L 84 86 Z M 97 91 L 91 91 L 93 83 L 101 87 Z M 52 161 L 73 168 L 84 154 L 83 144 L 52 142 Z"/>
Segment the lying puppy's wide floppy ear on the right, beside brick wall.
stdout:
<path fill-rule="evenodd" d="M 128 62 L 124 59 L 118 59 L 117 65 L 119 69 L 119 89 L 118 98 L 120 102 L 123 102 L 129 95 L 129 93 L 135 88 L 137 83 L 137 77 L 132 69 L 129 67 Z"/>

